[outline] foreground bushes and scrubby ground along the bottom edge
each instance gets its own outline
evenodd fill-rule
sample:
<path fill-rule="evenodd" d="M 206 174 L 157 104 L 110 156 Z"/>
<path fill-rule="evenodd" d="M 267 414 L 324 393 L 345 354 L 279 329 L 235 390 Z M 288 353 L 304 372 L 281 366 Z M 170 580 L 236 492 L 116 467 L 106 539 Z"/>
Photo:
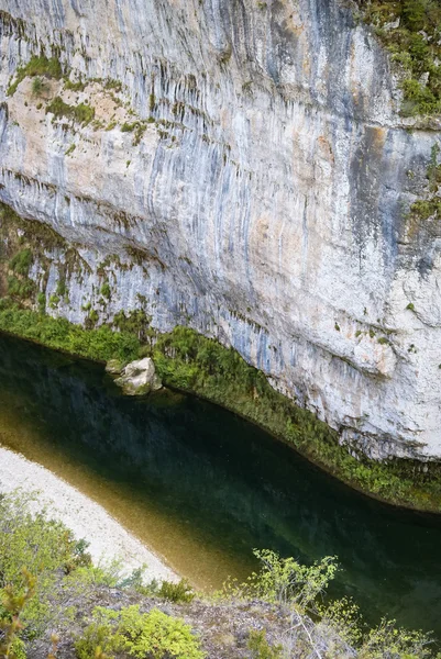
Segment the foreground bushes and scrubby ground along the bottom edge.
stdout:
<path fill-rule="evenodd" d="M 121 563 L 93 566 L 87 543 L 31 513 L 32 501 L 21 491 L 0 498 L 2 659 L 55 659 L 62 644 L 77 659 L 436 657 L 431 635 L 387 618 L 371 628 L 345 597 L 323 603 L 335 558 L 302 566 L 254 550 L 261 569 L 245 583 L 173 603 L 140 569 L 122 577 Z"/>

